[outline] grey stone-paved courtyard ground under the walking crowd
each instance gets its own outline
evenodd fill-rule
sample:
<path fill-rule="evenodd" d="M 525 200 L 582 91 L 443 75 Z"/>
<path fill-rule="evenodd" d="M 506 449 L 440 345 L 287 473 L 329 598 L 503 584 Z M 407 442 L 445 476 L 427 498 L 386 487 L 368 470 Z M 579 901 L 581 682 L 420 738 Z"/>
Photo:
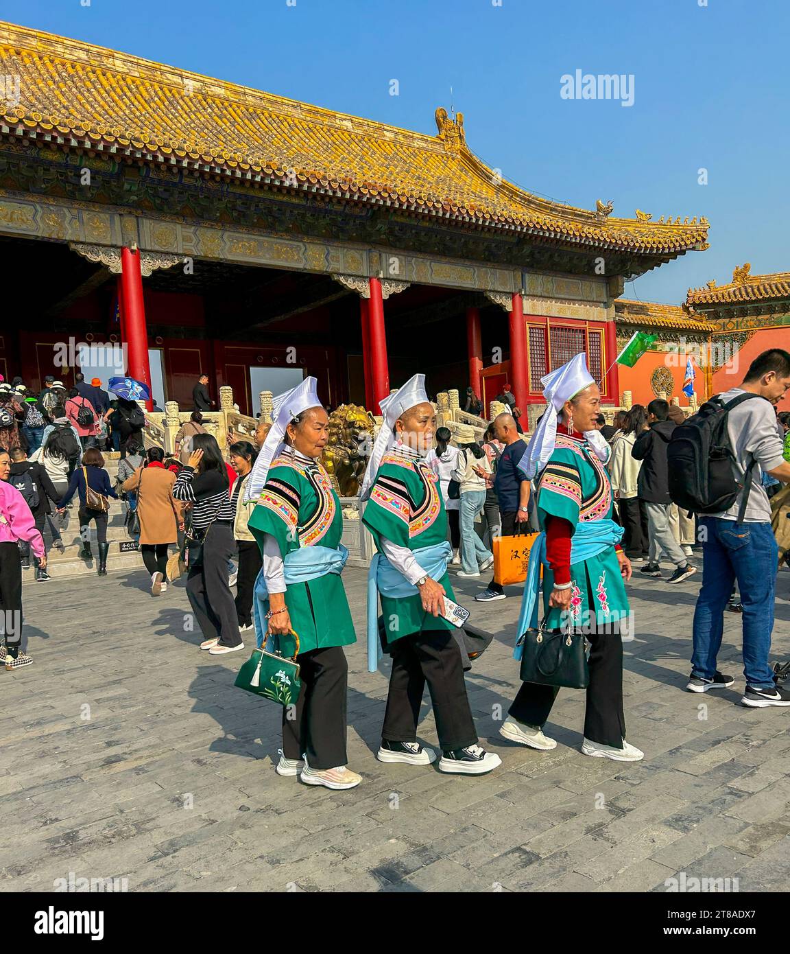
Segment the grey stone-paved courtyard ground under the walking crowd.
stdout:
<path fill-rule="evenodd" d="M 361 633 L 361 570 L 345 574 Z M 790 573 L 780 574 L 775 657 L 790 653 Z M 496 642 L 468 677 L 479 735 L 503 765 L 483 778 L 374 758 L 387 676 L 351 648 L 350 764 L 330 793 L 278 778 L 279 708 L 233 689 L 246 653 L 200 653 L 182 586 L 153 600 L 142 572 L 25 588 L 34 666 L 0 671 L 0 884 L 125 877 L 130 891 L 650 891 L 688 877 L 785 890 L 790 878 L 790 713 L 737 703 L 739 617 L 721 668 L 732 690 L 681 692 L 698 586 L 631 587 L 623 765 L 578 752 L 583 696 L 563 691 L 539 753 L 497 735 L 517 690 L 517 598 L 458 591 Z M 514 591 L 517 593 L 517 591 Z M 701 707 L 701 708 L 700 708 Z M 421 735 L 436 741 L 425 710 Z"/>

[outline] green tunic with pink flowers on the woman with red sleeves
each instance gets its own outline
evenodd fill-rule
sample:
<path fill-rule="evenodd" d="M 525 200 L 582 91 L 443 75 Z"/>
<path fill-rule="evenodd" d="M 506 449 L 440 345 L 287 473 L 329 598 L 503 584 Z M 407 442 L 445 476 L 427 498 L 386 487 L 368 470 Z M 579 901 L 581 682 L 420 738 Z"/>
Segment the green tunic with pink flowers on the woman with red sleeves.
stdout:
<path fill-rule="evenodd" d="M 537 482 L 537 519 L 545 529 L 546 517 L 577 524 L 612 516 L 612 485 L 606 468 L 583 438 L 557 434 L 549 462 Z M 543 568 L 543 606 L 550 629 L 560 626 L 560 610 L 549 610 L 554 573 Z M 579 627 L 627 619 L 629 607 L 614 547 L 598 556 L 571 564 L 571 619 Z M 622 629 L 622 627 L 621 627 Z M 617 631 L 616 631 L 617 632 Z"/>

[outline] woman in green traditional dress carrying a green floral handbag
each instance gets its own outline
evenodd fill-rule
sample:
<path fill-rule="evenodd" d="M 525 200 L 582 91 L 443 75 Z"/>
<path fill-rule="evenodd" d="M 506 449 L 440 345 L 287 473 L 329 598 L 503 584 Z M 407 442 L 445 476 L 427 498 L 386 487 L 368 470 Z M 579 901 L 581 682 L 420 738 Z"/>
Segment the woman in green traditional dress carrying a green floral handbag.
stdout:
<path fill-rule="evenodd" d="M 340 501 L 319 462 L 328 435 L 329 417 L 314 378 L 276 398 L 274 423 L 247 480 L 246 499 L 256 501 L 248 528 L 263 558 L 254 598 L 258 646 L 267 630 L 283 655 L 294 652 L 292 633 L 299 640 L 302 688 L 295 708 L 283 709 L 276 772 L 346 789 L 362 780 L 346 767 L 343 646 L 356 635 L 340 579 L 348 558 L 340 544 Z"/>

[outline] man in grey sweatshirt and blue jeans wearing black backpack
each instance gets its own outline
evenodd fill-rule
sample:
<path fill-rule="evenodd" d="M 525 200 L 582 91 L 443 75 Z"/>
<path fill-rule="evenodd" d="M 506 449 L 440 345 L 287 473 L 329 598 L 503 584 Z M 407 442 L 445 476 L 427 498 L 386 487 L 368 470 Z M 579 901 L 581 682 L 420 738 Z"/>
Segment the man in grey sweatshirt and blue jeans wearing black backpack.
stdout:
<path fill-rule="evenodd" d="M 677 474 L 673 496 L 679 507 L 696 508 L 699 513 L 704 560 L 686 688 L 705 693 L 734 682 L 732 676 L 719 673 L 716 660 L 724 610 L 737 580 L 743 604 L 746 677 L 740 701 L 757 709 L 790 706 L 790 692 L 775 682 L 768 663 L 779 550 L 760 481 L 763 473 L 769 473 L 790 483 L 790 463 L 782 457 L 774 413 L 774 404 L 788 388 L 790 354 L 780 348 L 763 351 L 749 366 L 742 384 L 703 404 L 694 418 L 679 427 L 677 446 L 670 452 Z M 698 480 L 698 474 L 703 480 Z"/>

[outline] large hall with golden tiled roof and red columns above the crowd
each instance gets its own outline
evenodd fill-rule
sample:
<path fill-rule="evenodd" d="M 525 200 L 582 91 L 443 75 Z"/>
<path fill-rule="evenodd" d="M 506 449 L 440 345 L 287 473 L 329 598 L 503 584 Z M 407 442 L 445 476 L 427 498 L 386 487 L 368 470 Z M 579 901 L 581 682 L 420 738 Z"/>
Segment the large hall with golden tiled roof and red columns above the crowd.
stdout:
<path fill-rule="evenodd" d="M 11 24 L 0 77 L 0 372 L 33 388 L 112 342 L 182 410 L 201 373 L 245 414 L 313 374 L 327 404 L 378 413 L 419 370 L 461 404 L 510 383 L 529 416 L 584 350 L 618 405 L 618 339 L 649 317 L 624 280 L 707 247 L 704 218 L 518 189 L 442 108 L 423 135 Z M 745 321 L 701 299 L 653 317 Z"/>

